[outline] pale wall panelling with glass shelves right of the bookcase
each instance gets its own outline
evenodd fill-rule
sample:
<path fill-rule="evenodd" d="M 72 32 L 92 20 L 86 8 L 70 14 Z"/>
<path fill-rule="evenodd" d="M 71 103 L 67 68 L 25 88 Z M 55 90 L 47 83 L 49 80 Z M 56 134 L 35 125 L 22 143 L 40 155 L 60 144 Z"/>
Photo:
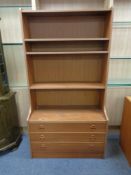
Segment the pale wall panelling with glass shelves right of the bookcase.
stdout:
<path fill-rule="evenodd" d="M 124 97 L 131 95 L 131 0 L 114 0 L 113 34 L 106 99 L 110 125 L 120 125 Z"/>

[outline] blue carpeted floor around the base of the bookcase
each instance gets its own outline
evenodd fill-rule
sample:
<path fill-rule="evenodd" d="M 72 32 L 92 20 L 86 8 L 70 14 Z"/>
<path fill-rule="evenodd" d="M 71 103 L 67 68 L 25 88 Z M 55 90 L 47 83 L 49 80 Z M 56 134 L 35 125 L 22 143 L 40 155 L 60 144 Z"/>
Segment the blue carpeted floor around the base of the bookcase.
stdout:
<path fill-rule="evenodd" d="M 30 159 L 26 135 L 18 150 L 0 156 L 0 175 L 131 175 L 117 138 L 108 141 L 105 159 Z"/>

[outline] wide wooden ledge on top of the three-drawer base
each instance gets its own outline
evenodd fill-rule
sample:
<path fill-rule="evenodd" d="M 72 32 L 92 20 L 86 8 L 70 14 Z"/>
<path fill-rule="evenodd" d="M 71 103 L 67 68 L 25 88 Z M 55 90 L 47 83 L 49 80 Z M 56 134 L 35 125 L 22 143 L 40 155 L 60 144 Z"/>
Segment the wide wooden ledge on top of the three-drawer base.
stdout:
<path fill-rule="evenodd" d="M 87 109 L 44 109 L 35 110 L 29 118 L 29 122 L 106 122 L 102 110 Z"/>

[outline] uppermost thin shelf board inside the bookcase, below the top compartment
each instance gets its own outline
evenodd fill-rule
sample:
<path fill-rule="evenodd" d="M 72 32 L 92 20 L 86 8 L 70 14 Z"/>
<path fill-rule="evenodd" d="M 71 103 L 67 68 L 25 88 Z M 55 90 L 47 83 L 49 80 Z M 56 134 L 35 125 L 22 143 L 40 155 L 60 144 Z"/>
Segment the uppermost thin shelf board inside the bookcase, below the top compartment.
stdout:
<path fill-rule="evenodd" d="M 31 38 L 24 39 L 25 42 L 52 42 L 52 41 L 109 41 L 109 38 Z"/>

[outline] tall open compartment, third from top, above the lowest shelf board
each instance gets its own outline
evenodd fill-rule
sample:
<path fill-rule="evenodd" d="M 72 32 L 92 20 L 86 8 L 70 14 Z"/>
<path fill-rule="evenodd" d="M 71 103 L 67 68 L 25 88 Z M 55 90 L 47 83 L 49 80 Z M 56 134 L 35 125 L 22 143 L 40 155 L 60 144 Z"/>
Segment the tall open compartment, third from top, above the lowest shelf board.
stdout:
<path fill-rule="evenodd" d="M 47 82 L 102 83 L 107 55 L 28 55 L 27 61 L 30 66 L 30 85 Z"/>

